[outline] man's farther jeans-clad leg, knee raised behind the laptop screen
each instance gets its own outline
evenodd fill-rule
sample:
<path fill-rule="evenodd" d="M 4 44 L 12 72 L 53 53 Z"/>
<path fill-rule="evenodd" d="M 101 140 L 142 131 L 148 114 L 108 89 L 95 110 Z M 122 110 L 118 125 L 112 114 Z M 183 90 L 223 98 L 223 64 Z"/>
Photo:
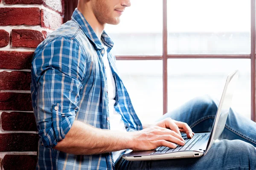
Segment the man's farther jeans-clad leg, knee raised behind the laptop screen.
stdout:
<path fill-rule="evenodd" d="M 163 115 L 187 123 L 193 132 L 209 132 L 218 109 L 219 102 L 208 95 L 187 102 L 172 112 Z M 219 139 L 240 139 L 256 147 L 256 123 L 230 109 L 223 133 Z"/>

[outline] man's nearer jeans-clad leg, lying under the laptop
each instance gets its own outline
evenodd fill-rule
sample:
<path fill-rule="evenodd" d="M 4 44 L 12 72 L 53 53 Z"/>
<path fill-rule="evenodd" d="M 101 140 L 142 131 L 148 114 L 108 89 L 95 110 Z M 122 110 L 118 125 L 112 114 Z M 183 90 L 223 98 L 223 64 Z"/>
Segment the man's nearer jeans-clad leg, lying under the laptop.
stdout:
<path fill-rule="evenodd" d="M 200 158 L 121 161 L 116 170 L 256 170 L 256 148 L 241 140 L 221 140 Z"/>

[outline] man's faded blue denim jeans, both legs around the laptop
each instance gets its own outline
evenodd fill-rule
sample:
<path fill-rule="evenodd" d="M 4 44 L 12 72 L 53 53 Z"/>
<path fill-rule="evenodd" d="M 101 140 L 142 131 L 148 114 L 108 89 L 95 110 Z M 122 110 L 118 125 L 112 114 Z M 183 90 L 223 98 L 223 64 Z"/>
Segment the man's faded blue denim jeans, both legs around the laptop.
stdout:
<path fill-rule="evenodd" d="M 186 122 L 193 132 L 210 131 L 218 109 L 218 101 L 209 96 L 195 98 L 164 118 Z M 159 161 L 116 162 L 118 170 L 256 170 L 256 123 L 230 109 L 220 141 L 200 158 Z"/>

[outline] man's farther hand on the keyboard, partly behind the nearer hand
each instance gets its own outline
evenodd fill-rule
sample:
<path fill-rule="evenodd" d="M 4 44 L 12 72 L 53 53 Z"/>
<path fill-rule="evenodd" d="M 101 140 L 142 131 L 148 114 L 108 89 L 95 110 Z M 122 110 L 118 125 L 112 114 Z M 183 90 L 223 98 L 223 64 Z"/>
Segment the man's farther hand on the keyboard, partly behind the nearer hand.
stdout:
<path fill-rule="evenodd" d="M 166 118 L 162 121 L 159 121 L 156 124 L 154 124 L 154 126 L 171 129 L 179 135 L 181 135 L 180 132 L 186 133 L 188 138 L 192 138 L 193 135 L 195 135 L 195 133 L 192 132 L 188 124 L 181 121 L 175 121 L 172 118 Z"/>

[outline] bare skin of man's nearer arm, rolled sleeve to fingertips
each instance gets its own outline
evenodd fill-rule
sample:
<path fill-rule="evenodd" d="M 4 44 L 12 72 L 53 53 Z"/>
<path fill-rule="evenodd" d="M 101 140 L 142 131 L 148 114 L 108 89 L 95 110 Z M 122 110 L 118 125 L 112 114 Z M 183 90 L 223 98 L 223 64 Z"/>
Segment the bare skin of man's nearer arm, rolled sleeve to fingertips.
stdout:
<path fill-rule="evenodd" d="M 74 121 L 70 131 L 54 149 L 76 155 L 92 155 L 123 149 L 152 150 L 159 146 L 175 148 L 176 144 L 184 145 L 183 141 L 180 135 L 162 127 L 150 127 L 137 132 L 119 132 L 102 130 Z"/>

